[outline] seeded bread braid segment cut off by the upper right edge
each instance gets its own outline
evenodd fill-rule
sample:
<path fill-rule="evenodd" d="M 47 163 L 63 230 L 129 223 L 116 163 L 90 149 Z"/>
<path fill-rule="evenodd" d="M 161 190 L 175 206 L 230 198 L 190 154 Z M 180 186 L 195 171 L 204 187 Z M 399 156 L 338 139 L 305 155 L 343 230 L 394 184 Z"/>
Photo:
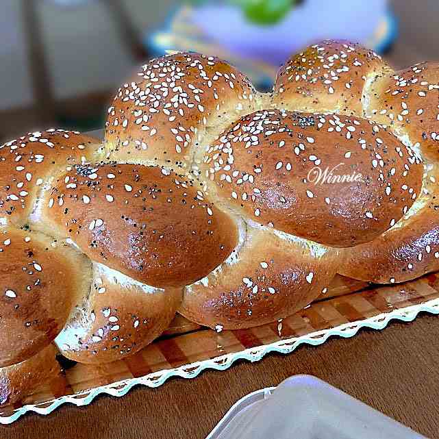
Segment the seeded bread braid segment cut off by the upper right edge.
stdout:
<path fill-rule="evenodd" d="M 439 159 L 439 64 L 423 62 L 371 84 L 366 114 L 430 160 Z M 407 138 L 408 136 L 408 138 Z"/>

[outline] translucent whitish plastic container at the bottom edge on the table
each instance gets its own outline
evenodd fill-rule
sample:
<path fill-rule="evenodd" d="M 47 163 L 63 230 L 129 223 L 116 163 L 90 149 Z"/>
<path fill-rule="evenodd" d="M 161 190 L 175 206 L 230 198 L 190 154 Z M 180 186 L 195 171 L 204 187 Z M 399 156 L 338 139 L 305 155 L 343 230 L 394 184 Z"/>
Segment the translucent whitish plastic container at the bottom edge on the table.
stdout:
<path fill-rule="evenodd" d="M 207 439 L 426 439 L 309 375 L 240 399 Z"/>

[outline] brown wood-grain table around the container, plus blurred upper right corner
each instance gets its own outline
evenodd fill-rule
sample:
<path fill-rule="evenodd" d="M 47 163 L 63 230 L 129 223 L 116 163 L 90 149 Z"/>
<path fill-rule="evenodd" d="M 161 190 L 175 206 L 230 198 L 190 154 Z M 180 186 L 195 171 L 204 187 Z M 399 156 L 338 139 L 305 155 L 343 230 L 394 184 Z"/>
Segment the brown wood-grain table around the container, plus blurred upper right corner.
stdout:
<path fill-rule="evenodd" d="M 439 60 L 439 2 L 394 1 L 401 36 L 394 66 Z M 86 407 L 64 405 L 49 416 L 26 415 L 0 427 L 4 439 L 202 439 L 245 394 L 307 373 L 348 392 L 430 438 L 439 438 L 439 318 L 419 316 L 384 331 L 362 330 L 290 355 L 240 362 L 196 379 L 171 379 L 158 389 L 101 396 Z"/>

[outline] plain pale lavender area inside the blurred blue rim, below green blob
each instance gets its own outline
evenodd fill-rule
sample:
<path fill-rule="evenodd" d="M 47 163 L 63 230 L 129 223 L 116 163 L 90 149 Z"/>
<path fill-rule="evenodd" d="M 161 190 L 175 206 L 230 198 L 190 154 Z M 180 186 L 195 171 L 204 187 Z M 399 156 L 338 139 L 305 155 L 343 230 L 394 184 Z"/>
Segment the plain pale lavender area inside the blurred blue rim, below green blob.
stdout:
<path fill-rule="evenodd" d="M 192 21 L 232 53 L 279 65 L 312 42 L 344 39 L 366 43 L 386 16 L 386 0 L 305 0 L 279 23 L 255 25 L 234 5 L 207 3 Z"/>

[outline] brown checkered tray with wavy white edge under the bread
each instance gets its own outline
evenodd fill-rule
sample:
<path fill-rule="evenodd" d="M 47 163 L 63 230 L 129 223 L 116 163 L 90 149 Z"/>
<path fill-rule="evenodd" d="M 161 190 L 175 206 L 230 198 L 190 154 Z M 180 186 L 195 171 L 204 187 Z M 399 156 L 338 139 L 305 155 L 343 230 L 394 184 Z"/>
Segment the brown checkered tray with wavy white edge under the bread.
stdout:
<path fill-rule="evenodd" d="M 165 337 L 131 357 L 100 366 L 74 364 L 21 404 L 0 407 L 0 423 L 26 412 L 49 414 L 64 403 L 87 405 L 101 393 L 122 397 L 138 384 L 154 388 L 170 377 L 195 378 L 206 368 L 224 371 L 236 360 L 255 362 L 331 336 L 352 337 L 362 327 L 384 329 L 392 319 L 412 321 L 419 312 L 439 314 L 438 274 L 357 292 L 364 283 L 340 279 L 335 297 L 321 297 L 279 323 L 217 333 L 177 316 Z"/>

